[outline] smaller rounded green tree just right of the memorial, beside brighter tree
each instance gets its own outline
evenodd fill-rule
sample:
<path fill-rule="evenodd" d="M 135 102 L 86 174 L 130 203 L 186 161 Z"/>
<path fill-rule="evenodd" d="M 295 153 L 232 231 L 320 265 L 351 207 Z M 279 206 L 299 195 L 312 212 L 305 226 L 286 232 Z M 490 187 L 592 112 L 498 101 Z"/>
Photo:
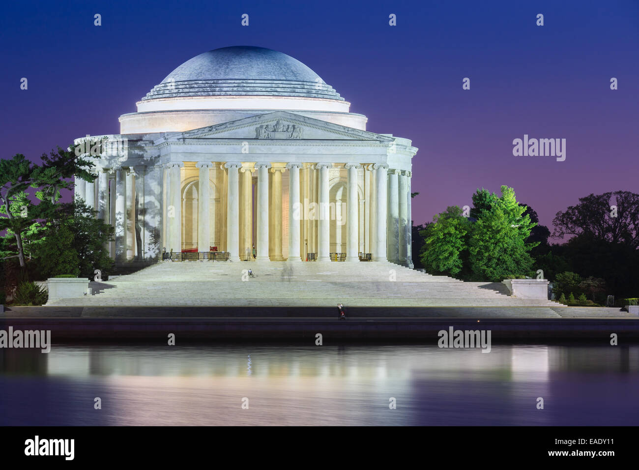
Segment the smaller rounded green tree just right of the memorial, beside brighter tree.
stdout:
<path fill-rule="evenodd" d="M 463 269 L 468 220 L 462 212 L 450 206 L 420 232 L 424 237 L 420 260 L 429 272 L 456 276 Z"/>

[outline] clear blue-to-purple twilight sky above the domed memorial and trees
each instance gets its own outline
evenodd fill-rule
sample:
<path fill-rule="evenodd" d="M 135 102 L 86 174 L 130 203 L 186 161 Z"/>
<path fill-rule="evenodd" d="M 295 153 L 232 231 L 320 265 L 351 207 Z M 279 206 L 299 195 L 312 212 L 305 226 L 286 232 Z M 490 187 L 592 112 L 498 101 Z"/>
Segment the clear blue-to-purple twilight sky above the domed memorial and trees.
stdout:
<path fill-rule="evenodd" d="M 116 134 L 118 116 L 187 59 L 258 45 L 302 61 L 368 130 L 412 139 L 415 223 L 514 187 L 549 225 L 591 192 L 639 190 L 639 3 L 595 1 L 12 2 L 3 158 Z M 102 26 L 93 26 L 93 15 Z M 241 26 L 248 13 L 249 26 Z M 389 26 L 389 15 L 397 26 Z M 536 16 L 544 15 L 544 26 Z M 20 90 L 20 79 L 28 90 Z M 470 78 L 470 90 L 462 80 Z M 618 90 L 610 90 L 610 79 Z M 514 157 L 524 134 L 566 161 Z"/>

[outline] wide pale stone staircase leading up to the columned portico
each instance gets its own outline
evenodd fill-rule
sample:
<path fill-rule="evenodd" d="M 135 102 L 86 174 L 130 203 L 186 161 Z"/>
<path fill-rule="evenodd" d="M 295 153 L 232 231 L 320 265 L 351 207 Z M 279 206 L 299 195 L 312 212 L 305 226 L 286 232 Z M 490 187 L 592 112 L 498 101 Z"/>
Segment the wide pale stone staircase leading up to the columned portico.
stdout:
<path fill-rule="evenodd" d="M 247 276 L 251 269 L 254 278 Z M 482 307 L 491 316 L 559 318 L 557 302 L 510 297 L 502 283 L 463 282 L 390 262 L 162 262 L 91 283 L 52 306 Z M 489 308 L 489 309 L 488 309 Z M 475 314 L 476 315 L 476 314 Z"/>

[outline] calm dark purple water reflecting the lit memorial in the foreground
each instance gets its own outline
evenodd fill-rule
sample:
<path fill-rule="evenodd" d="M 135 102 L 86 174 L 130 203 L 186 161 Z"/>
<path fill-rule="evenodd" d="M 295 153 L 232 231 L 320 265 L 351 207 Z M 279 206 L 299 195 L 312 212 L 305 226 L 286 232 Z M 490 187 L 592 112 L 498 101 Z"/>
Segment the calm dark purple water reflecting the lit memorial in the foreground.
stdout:
<path fill-rule="evenodd" d="M 3 349 L 0 424 L 638 425 L 639 346 Z"/>

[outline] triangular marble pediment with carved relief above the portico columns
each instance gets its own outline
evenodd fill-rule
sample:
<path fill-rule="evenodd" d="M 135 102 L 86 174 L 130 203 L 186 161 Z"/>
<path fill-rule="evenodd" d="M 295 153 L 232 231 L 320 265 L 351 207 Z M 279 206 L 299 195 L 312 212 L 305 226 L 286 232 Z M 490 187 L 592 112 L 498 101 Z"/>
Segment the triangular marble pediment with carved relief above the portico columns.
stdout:
<path fill-rule="evenodd" d="M 357 140 L 392 142 L 392 137 L 322 121 L 288 111 L 258 114 L 248 118 L 215 124 L 200 129 L 174 132 L 164 140 L 183 139 L 242 139 L 242 140 Z"/>

